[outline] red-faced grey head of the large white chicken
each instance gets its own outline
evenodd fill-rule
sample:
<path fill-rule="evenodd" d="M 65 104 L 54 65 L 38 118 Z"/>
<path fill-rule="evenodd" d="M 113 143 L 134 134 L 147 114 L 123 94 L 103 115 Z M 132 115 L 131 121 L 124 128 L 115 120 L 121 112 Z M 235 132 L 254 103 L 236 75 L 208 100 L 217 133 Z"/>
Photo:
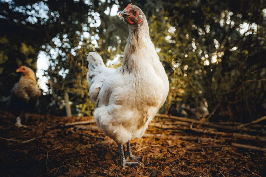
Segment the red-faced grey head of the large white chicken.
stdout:
<path fill-rule="evenodd" d="M 145 18 L 143 11 L 138 6 L 132 4 L 127 5 L 118 16 L 123 17 L 125 22 L 130 25 L 138 25 Z"/>

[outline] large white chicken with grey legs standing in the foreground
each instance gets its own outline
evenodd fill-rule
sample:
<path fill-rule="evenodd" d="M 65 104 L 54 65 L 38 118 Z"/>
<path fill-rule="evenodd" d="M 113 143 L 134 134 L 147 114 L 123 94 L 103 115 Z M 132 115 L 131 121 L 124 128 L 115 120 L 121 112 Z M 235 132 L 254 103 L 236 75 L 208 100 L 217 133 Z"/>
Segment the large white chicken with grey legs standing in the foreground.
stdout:
<path fill-rule="evenodd" d="M 169 90 L 167 74 L 149 36 L 143 11 L 128 5 L 119 17 L 128 24 L 129 36 L 123 64 L 117 70 L 107 68 L 101 56 L 90 52 L 87 57 L 90 99 L 96 102 L 94 119 L 97 126 L 118 143 L 121 166 L 140 165 L 132 155 L 130 140 L 141 138 Z M 127 154 L 135 162 L 127 162 Z"/>

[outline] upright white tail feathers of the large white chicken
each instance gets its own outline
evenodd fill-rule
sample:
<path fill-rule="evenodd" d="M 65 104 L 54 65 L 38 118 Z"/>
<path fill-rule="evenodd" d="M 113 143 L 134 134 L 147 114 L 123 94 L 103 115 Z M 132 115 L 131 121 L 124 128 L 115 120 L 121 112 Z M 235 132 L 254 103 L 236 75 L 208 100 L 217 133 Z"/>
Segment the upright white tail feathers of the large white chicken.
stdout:
<path fill-rule="evenodd" d="M 87 57 L 89 62 L 89 71 L 87 72 L 87 80 L 89 86 L 92 84 L 93 77 L 101 73 L 102 67 L 106 67 L 103 63 L 102 57 L 96 52 L 90 52 Z"/>

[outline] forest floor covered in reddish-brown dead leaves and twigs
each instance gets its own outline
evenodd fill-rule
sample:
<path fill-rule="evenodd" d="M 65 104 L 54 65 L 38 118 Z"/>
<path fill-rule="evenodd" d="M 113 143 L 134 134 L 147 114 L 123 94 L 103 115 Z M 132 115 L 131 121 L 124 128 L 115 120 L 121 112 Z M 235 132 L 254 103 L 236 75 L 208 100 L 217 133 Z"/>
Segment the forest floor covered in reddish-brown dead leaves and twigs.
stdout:
<path fill-rule="evenodd" d="M 266 176 L 265 134 L 212 135 L 155 118 L 143 138 L 131 140 L 144 167 L 122 169 L 117 144 L 92 117 L 26 116 L 27 128 L 18 128 L 0 111 L 0 176 Z M 91 123 L 67 124 L 78 121 Z"/>

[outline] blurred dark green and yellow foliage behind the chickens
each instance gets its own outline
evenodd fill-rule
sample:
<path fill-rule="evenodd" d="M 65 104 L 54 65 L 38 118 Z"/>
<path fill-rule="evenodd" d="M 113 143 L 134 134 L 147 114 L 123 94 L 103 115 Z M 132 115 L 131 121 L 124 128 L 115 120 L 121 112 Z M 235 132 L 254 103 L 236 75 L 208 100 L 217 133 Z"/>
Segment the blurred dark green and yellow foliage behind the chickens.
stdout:
<path fill-rule="evenodd" d="M 118 68 L 128 36 L 117 16 L 128 3 L 142 8 L 169 76 L 160 113 L 174 101 L 192 107 L 206 98 L 212 117 L 248 122 L 265 114 L 264 0 L 0 0 L 0 96 L 36 71 L 42 114 L 92 115 L 86 53 L 97 51 Z"/>

